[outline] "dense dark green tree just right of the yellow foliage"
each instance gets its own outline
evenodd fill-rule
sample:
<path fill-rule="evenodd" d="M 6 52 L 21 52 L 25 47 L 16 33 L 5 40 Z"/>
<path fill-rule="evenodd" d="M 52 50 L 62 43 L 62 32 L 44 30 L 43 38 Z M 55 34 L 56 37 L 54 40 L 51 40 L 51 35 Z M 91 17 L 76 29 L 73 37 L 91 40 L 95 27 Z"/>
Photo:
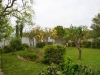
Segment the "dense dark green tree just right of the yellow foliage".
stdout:
<path fill-rule="evenodd" d="M 65 35 L 65 30 L 63 26 L 57 26 L 54 28 L 57 31 L 57 43 L 62 43 L 63 42 L 63 37 Z"/>

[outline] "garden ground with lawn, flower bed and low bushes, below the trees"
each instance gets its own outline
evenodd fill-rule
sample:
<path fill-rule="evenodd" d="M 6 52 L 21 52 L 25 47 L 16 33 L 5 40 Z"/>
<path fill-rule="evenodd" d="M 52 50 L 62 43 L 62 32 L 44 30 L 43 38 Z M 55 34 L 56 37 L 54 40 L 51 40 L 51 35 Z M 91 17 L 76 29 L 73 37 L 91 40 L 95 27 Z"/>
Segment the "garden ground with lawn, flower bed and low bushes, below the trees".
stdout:
<path fill-rule="evenodd" d="M 16 43 L 15 43 L 16 42 Z M 16 44 L 16 48 L 12 47 Z M 19 45 L 20 46 L 17 46 Z M 99 75 L 100 49 L 83 48 L 82 59 L 78 60 L 78 50 L 70 42 L 61 44 L 38 43 L 36 48 L 21 44 L 19 38 L 12 39 L 1 53 L 1 67 L 5 75 Z M 44 46 L 43 46 L 44 45 Z M 87 45 L 87 44 L 86 44 Z M 11 49 L 16 49 L 11 50 Z"/>

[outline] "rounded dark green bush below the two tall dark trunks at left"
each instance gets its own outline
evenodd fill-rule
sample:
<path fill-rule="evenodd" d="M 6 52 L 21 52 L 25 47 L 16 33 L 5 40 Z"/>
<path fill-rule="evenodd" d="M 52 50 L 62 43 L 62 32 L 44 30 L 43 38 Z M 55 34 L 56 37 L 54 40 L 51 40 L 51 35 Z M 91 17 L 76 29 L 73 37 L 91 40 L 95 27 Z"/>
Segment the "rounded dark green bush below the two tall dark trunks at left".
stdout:
<path fill-rule="evenodd" d="M 13 51 L 15 51 L 15 50 L 17 50 L 17 51 L 18 51 L 18 50 L 21 50 L 21 45 L 22 45 L 21 39 L 18 38 L 18 37 L 13 38 L 13 39 L 10 41 L 10 45 L 11 45 Z"/>

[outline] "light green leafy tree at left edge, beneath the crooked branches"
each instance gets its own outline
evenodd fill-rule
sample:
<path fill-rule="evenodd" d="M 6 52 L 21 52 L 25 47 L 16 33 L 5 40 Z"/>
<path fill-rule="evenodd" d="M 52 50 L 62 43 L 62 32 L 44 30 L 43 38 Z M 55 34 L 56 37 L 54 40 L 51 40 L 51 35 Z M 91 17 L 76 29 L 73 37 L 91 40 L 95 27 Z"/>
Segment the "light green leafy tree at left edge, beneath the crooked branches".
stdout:
<path fill-rule="evenodd" d="M 0 41 L 8 39 L 13 32 L 13 28 L 8 21 L 8 18 L 0 20 Z"/>

